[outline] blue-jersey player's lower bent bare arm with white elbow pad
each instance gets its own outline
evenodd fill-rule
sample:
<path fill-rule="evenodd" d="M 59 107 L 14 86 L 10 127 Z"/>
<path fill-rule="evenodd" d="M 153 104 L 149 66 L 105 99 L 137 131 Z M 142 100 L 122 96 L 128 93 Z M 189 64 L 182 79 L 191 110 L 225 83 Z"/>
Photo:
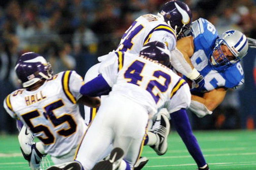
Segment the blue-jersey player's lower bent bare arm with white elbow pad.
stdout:
<path fill-rule="evenodd" d="M 191 95 L 189 109 L 198 117 L 212 114 L 212 111 L 224 100 L 226 92 L 226 88 L 218 88 L 204 93 L 203 97 Z"/>

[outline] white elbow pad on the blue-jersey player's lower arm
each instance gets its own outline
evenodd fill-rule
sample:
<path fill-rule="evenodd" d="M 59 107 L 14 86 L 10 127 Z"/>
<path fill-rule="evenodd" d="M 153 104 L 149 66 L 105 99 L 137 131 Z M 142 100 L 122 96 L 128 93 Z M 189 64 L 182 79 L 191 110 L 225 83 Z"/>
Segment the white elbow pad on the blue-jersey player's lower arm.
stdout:
<path fill-rule="evenodd" d="M 212 111 L 209 110 L 203 103 L 195 100 L 191 100 L 189 110 L 194 112 L 197 117 L 204 117 L 205 115 L 211 115 Z"/>

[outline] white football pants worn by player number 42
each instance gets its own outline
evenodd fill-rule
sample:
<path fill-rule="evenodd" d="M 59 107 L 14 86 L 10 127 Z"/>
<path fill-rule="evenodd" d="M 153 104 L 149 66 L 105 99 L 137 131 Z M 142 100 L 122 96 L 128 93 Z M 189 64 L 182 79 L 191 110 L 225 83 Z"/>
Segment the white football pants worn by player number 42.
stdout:
<path fill-rule="evenodd" d="M 112 143 L 124 150 L 124 160 L 134 165 L 140 156 L 148 124 L 148 111 L 119 94 L 110 94 L 84 136 L 76 159 L 90 170 Z"/>

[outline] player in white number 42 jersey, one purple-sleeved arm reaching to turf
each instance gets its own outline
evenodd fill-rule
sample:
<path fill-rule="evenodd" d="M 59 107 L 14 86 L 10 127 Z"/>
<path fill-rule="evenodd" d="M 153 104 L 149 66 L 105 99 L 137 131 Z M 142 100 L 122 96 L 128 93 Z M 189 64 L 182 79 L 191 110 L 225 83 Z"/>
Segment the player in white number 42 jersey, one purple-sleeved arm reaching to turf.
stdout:
<path fill-rule="evenodd" d="M 133 169 L 143 148 L 148 120 L 162 107 L 176 122 L 197 165 L 207 166 L 186 113 L 191 101 L 188 84 L 168 67 L 169 57 L 170 51 L 158 41 L 147 43 L 140 55 L 118 51 L 107 56 L 100 64 L 100 75 L 83 85 L 80 92 L 95 96 L 110 87 L 112 90 L 88 127 L 76 162 L 63 169 Z M 95 165 L 110 144 L 114 149 L 109 158 Z M 51 170 L 59 169 L 55 166 Z"/>

